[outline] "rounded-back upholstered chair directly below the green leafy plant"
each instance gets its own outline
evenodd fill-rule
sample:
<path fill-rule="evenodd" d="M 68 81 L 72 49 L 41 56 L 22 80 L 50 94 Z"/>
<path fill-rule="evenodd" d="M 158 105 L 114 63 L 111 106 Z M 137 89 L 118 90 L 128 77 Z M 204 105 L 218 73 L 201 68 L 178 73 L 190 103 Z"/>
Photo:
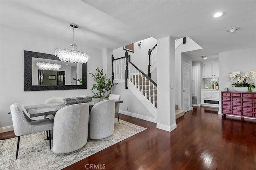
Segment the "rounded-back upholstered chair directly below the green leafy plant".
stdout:
<path fill-rule="evenodd" d="M 114 133 L 115 101 L 96 103 L 90 112 L 90 139 L 98 140 Z"/>

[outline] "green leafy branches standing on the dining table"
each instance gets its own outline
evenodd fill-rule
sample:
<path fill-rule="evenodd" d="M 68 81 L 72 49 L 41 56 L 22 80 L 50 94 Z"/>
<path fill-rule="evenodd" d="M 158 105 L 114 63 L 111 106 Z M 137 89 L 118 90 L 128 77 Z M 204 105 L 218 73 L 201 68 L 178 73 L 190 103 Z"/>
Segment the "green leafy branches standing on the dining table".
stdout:
<path fill-rule="evenodd" d="M 94 98 L 108 98 L 111 93 L 111 89 L 116 83 L 112 83 L 110 78 L 106 77 L 106 74 L 103 73 L 103 70 L 96 67 L 96 73 L 89 72 L 92 76 L 95 84 L 92 84 L 92 88 L 90 89 L 94 94 Z"/>

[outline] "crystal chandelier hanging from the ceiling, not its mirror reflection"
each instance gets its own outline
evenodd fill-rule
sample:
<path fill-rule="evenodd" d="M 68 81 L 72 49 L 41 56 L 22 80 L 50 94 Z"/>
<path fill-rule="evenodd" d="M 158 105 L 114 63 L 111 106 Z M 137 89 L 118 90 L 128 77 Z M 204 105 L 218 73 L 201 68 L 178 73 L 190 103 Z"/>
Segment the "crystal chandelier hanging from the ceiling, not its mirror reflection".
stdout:
<path fill-rule="evenodd" d="M 71 44 L 72 49 L 55 49 L 55 55 L 58 56 L 61 61 L 86 63 L 90 59 L 90 55 L 78 51 L 75 44 L 75 28 L 78 28 L 78 26 L 74 23 L 71 23 L 70 26 L 73 27 L 73 43 Z"/>

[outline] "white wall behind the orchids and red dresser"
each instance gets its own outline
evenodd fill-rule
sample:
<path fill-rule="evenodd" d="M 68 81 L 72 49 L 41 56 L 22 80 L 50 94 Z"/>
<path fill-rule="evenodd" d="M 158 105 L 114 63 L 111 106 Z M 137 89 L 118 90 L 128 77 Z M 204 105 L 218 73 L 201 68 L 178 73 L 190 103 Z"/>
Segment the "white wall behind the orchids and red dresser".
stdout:
<path fill-rule="evenodd" d="M 244 75 L 250 70 L 256 71 L 256 47 L 219 53 L 220 92 L 224 91 L 225 87 L 229 91 L 234 91 L 231 85 L 233 82 L 228 81 L 228 73 L 230 71 L 240 71 Z M 254 85 L 256 85 L 256 81 L 254 81 Z M 219 113 L 221 113 L 221 102 L 220 97 Z"/>

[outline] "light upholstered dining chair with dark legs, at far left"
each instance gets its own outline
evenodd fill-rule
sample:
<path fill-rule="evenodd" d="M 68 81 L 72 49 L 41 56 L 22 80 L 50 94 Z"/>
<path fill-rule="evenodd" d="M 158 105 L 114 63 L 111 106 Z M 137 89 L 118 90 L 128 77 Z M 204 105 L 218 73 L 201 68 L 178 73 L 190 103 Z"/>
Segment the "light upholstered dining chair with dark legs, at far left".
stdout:
<path fill-rule="evenodd" d="M 51 134 L 52 122 L 50 119 L 40 119 L 32 120 L 30 119 L 23 109 L 20 107 L 20 104 L 15 103 L 10 106 L 12 113 L 12 123 L 14 134 L 18 136 L 17 150 L 16 150 L 16 159 L 18 158 L 19 145 L 20 145 L 20 136 L 28 135 L 31 133 L 49 131 Z M 49 145 L 51 149 L 51 138 L 49 140 Z"/>

